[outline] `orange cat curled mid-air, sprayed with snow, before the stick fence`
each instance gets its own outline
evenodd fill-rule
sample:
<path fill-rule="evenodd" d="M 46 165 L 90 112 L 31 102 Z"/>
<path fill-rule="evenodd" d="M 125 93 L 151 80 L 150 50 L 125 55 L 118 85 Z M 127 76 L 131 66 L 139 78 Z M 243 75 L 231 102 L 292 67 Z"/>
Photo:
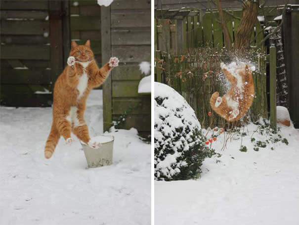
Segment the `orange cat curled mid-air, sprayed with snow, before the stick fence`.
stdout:
<path fill-rule="evenodd" d="M 230 90 L 222 97 L 215 92 L 210 99 L 212 109 L 229 122 L 240 119 L 251 107 L 255 86 L 252 70 L 247 64 L 241 63 L 228 71 L 225 64 L 221 69 L 227 80 L 231 83 Z"/>

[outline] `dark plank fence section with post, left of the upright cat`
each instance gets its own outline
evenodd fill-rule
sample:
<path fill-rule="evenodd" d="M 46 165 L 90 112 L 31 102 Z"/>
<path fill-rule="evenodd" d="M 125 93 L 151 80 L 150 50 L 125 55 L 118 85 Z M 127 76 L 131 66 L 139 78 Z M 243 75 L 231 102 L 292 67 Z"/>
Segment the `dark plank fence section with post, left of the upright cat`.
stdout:
<path fill-rule="evenodd" d="M 52 104 L 70 49 L 68 11 L 68 1 L 1 0 L 1 104 Z"/>

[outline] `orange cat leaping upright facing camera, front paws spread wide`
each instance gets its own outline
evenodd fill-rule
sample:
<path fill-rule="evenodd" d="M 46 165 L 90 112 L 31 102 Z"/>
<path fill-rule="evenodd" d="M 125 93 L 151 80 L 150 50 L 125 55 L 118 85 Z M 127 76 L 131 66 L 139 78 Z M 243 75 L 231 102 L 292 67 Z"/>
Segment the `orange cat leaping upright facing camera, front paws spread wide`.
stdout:
<path fill-rule="evenodd" d="M 57 78 L 53 91 L 53 122 L 45 144 L 44 156 L 49 159 L 60 136 L 66 144 L 74 141 L 71 131 L 85 144 L 99 148 L 100 143 L 91 143 L 88 128 L 84 121 L 86 98 L 92 88 L 100 86 L 111 69 L 118 66 L 119 60 L 110 58 L 109 63 L 98 68 L 90 49 L 90 41 L 85 45 L 72 42 L 67 66 Z"/>

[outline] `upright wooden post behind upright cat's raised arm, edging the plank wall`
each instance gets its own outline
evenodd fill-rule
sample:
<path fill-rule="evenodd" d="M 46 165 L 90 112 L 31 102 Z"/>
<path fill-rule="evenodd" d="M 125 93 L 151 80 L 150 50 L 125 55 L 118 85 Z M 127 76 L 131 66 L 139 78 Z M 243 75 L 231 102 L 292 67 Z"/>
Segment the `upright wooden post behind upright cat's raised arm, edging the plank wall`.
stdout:
<path fill-rule="evenodd" d="M 101 41 L 102 65 L 111 57 L 111 11 L 109 7 L 101 7 Z M 111 72 L 113 73 L 113 72 Z M 103 129 L 110 129 L 112 123 L 112 74 L 103 84 Z"/>

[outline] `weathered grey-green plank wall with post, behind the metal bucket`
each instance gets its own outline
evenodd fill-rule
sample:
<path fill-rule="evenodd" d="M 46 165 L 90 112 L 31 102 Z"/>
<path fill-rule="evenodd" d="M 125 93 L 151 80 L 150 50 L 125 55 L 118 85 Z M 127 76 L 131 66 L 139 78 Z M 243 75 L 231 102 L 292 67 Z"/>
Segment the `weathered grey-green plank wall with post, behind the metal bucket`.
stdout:
<path fill-rule="evenodd" d="M 102 64 L 111 56 L 120 60 L 103 85 L 104 130 L 128 112 L 122 126 L 150 134 L 151 98 L 138 94 L 143 75 L 139 65 L 151 61 L 151 6 L 148 0 L 117 0 L 102 7 Z M 136 106 L 136 107 L 135 107 Z M 129 110 L 133 107 L 132 110 Z"/>

